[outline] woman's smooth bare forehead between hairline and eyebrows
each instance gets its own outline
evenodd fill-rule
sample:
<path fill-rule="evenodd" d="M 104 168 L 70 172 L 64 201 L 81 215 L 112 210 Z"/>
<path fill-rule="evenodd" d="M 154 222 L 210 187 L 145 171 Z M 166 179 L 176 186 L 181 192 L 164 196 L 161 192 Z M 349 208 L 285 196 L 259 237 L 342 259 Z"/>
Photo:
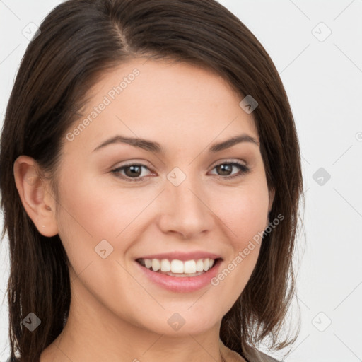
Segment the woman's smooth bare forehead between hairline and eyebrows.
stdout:
<path fill-rule="evenodd" d="M 240 95 L 215 72 L 193 64 L 133 59 L 102 74 L 87 99 L 83 116 L 69 129 L 81 126 L 74 146 L 82 140 L 94 148 L 116 134 L 161 144 L 182 139 L 182 147 L 186 140 L 211 142 L 242 132 L 258 138 Z"/>

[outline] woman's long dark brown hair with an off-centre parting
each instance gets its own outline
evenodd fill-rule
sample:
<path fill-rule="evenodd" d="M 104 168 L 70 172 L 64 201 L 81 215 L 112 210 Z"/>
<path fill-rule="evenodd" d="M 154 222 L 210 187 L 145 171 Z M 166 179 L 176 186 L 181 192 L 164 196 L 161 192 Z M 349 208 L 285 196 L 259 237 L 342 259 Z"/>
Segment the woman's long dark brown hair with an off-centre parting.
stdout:
<path fill-rule="evenodd" d="M 254 35 L 215 0 L 69 0 L 54 8 L 30 42 L 13 86 L 1 136 L 0 187 L 8 234 L 11 360 L 38 361 L 62 332 L 69 312 L 69 261 L 56 235 L 41 235 L 25 212 L 13 177 L 20 155 L 55 175 L 66 129 L 86 91 L 105 70 L 134 57 L 170 58 L 212 69 L 240 100 L 259 103 L 252 115 L 269 189 L 269 214 L 284 220 L 264 234 L 259 258 L 241 296 L 223 317 L 220 337 L 242 356 L 259 361 L 255 346 L 279 340 L 295 292 L 292 256 L 303 183 L 296 127 L 276 68 Z M 55 176 L 54 176 L 55 177 Z M 34 312 L 34 332 L 22 325 Z M 26 356 L 26 357 L 25 357 Z M 253 359 L 254 361 L 254 359 Z"/>

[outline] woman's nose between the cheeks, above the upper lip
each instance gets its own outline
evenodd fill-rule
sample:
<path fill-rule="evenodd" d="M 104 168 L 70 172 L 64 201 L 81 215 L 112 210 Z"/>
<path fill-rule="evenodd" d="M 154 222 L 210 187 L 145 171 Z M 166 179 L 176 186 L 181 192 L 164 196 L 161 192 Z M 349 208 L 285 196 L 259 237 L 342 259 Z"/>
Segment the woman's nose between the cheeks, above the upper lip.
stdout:
<path fill-rule="evenodd" d="M 211 230 L 214 212 L 205 187 L 192 177 L 178 186 L 166 180 L 160 201 L 158 226 L 163 233 L 176 233 L 183 238 L 197 238 Z"/>

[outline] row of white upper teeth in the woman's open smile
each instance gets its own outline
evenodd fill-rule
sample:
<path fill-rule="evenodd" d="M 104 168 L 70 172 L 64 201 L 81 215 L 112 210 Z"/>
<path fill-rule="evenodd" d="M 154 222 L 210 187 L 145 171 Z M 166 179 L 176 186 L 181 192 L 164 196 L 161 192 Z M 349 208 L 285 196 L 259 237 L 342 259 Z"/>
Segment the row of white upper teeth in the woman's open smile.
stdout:
<path fill-rule="evenodd" d="M 139 262 L 144 265 L 147 269 L 153 271 L 163 271 L 169 274 L 192 274 L 199 275 L 202 271 L 208 271 L 213 267 L 214 259 L 198 259 L 198 260 L 168 260 L 168 259 L 139 259 Z"/>

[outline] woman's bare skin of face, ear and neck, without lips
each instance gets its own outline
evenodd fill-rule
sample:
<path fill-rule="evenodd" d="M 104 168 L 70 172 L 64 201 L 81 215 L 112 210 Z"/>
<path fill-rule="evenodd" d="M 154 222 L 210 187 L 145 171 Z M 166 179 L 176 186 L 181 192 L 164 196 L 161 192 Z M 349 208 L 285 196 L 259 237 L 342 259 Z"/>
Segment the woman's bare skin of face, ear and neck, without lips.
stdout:
<path fill-rule="evenodd" d="M 267 227 L 274 193 L 257 144 L 208 151 L 238 134 L 259 141 L 252 114 L 239 106 L 243 98 L 211 71 L 133 59 L 103 74 L 84 117 L 134 68 L 139 76 L 73 141 L 64 139 L 57 201 L 33 158 L 14 164 L 25 210 L 40 233 L 59 234 L 71 264 L 69 319 L 40 362 L 222 361 L 221 319 L 257 262 L 260 245 L 218 286 L 190 293 L 161 288 L 139 271 L 137 257 L 175 250 L 221 255 L 222 271 Z M 156 141 L 165 154 L 122 143 L 93 151 L 115 135 Z M 227 162 L 250 172 L 216 168 Z M 128 163 L 146 166 L 133 176 L 143 180 L 122 179 L 132 178 L 129 169 L 111 172 Z M 175 167 L 186 176 L 178 186 L 167 178 Z M 105 259 L 95 252 L 104 239 L 113 247 Z M 168 324 L 174 313 L 185 320 L 177 331 Z"/>

